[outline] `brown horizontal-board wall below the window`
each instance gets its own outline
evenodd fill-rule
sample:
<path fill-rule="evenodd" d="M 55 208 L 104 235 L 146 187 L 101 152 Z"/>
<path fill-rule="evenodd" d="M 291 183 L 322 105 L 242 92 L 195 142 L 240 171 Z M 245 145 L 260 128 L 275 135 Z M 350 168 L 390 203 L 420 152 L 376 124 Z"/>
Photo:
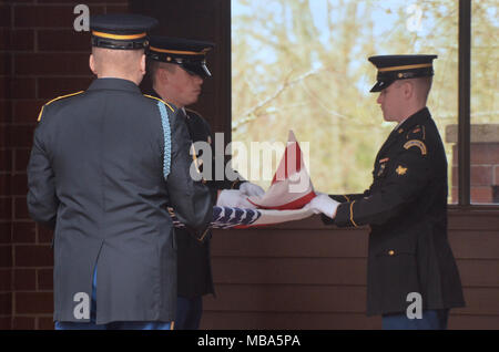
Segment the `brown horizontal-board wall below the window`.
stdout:
<path fill-rule="evenodd" d="M 498 210 L 449 207 L 448 238 L 466 307 L 449 329 L 499 329 Z M 366 317 L 368 228 L 324 226 L 319 216 L 251 229 L 215 230 L 216 298 L 204 297 L 202 329 L 380 329 Z"/>

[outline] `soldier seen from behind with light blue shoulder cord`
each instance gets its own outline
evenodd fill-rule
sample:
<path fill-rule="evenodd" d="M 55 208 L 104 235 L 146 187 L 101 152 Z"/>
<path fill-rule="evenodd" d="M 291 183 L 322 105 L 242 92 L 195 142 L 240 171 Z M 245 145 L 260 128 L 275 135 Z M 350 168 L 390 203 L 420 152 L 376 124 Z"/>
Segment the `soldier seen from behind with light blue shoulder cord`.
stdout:
<path fill-rule="evenodd" d="M 210 190 L 190 175 L 183 117 L 138 86 L 155 23 L 92 17 L 98 79 L 40 112 L 28 207 L 54 228 L 55 329 L 171 329 L 176 251 L 167 206 L 191 236 L 212 219 Z"/>

